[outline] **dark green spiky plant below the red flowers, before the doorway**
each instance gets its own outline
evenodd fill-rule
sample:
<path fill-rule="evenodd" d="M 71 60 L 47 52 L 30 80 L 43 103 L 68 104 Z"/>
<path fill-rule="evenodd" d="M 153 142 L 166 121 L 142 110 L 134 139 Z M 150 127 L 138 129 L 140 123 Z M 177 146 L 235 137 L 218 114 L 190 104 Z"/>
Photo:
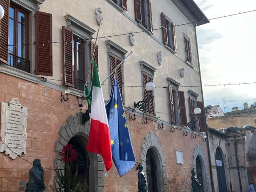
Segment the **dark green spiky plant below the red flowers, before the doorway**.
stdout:
<path fill-rule="evenodd" d="M 59 169 L 58 167 L 64 167 L 64 169 Z M 56 192 L 87 192 L 89 186 L 87 185 L 87 180 L 84 182 L 79 182 L 77 180 L 78 168 L 76 166 L 73 172 L 72 163 L 62 163 L 58 166 L 56 170 L 56 182 L 59 188 Z"/>

